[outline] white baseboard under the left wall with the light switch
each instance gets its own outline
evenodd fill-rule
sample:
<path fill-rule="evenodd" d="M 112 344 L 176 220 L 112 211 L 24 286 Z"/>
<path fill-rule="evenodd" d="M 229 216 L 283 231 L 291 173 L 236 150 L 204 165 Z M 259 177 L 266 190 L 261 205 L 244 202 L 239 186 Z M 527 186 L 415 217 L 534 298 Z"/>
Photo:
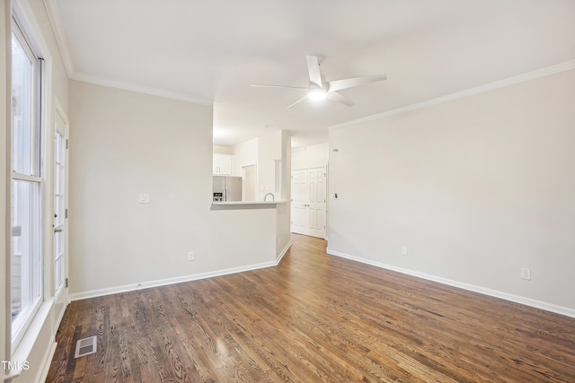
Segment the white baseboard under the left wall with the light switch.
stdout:
<path fill-rule="evenodd" d="M 70 294 L 69 298 L 71 301 L 85 300 L 88 298 L 102 297 L 104 295 L 118 294 L 120 292 L 133 292 L 133 291 L 136 291 L 139 289 L 149 289 L 150 287 L 159 287 L 159 286 L 165 286 L 168 284 L 198 281 L 200 279 L 213 278 L 215 276 L 243 273 L 245 271 L 252 271 L 252 270 L 257 270 L 257 269 L 261 269 L 261 268 L 277 266 L 278 264 L 279 264 L 279 261 L 262 262 L 261 264 L 246 265 L 246 266 L 241 266 L 241 267 L 233 267 L 233 268 L 228 268 L 228 269 L 224 269 L 224 270 L 217 270 L 217 271 L 208 272 L 208 273 L 178 276 L 175 278 L 159 279 L 156 281 L 137 283 L 136 285 L 125 284 L 123 286 L 109 287 L 109 288 L 105 288 L 105 289 L 92 290 L 89 292 L 76 292 L 74 294 Z"/>

